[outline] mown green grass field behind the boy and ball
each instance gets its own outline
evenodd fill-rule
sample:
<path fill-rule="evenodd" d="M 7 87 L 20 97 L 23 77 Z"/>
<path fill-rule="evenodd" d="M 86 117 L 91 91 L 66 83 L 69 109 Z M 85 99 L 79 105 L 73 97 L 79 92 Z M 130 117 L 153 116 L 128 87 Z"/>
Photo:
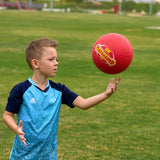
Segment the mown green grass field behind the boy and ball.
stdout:
<path fill-rule="evenodd" d="M 118 91 L 90 110 L 62 105 L 59 159 L 160 159 L 160 30 L 145 28 L 151 26 L 160 26 L 160 17 L 0 11 L 0 159 L 8 159 L 14 140 L 2 121 L 9 91 L 32 75 L 25 47 L 39 37 L 59 41 L 59 70 L 52 80 L 83 97 L 122 77 Z M 102 73 L 91 57 L 95 41 L 111 32 L 127 37 L 134 50 L 132 64 L 119 75 Z"/>

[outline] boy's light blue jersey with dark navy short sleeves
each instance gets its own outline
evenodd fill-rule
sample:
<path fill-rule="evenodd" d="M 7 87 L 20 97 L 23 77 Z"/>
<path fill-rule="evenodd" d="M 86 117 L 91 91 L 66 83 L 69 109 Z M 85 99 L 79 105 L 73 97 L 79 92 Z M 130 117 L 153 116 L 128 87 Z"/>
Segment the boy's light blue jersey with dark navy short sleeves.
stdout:
<path fill-rule="evenodd" d="M 73 108 L 77 96 L 65 85 L 50 80 L 44 91 L 31 78 L 17 84 L 10 92 L 6 111 L 17 113 L 17 124 L 23 121 L 27 147 L 16 135 L 10 159 L 56 160 L 60 107 L 63 103 Z"/>

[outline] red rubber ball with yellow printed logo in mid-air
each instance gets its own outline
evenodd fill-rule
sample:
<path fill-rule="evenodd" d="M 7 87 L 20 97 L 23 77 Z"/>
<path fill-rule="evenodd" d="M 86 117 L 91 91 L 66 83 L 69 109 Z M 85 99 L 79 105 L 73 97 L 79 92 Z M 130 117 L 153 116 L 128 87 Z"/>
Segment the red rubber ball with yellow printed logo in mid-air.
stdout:
<path fill-rule="evenodd" d="M 94 64 L 104 73 L 118 74 L 126 70 L 133 59 L 133 48 L 129 40 L 117 33 L 100 37 L 93 46 Z"/>

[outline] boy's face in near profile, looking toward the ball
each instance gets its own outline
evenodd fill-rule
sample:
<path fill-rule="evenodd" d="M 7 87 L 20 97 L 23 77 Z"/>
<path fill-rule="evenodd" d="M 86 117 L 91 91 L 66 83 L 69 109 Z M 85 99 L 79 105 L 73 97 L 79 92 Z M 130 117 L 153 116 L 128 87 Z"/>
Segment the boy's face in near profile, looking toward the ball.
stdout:
<path fill-rule="evenodd" d="M 58 62 L 57 51 L 53 47 L 45 47 L 41 58 L 38 60 L 39 73 L 46 77 L 56 75 Z"/>

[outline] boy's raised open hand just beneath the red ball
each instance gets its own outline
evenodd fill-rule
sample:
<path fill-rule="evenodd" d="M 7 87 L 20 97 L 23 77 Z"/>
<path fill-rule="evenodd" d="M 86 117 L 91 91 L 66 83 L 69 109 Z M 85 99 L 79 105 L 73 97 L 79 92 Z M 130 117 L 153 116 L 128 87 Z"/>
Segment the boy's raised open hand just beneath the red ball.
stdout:
<path fill-rule="evenodd" d="M 110 83 L 109 83 L 109 85 L 107 87 L 107 90 L 106 90 L 107 97 L 110 97 L 117 90 L 117 87 L 118 87 L 118 84 L 119 84 L 120 80 L 121 80 L 121 77 L 116 78 L 116 82 L 114 84 L 113 83 L 114 79 L 111 78 Z"/>

